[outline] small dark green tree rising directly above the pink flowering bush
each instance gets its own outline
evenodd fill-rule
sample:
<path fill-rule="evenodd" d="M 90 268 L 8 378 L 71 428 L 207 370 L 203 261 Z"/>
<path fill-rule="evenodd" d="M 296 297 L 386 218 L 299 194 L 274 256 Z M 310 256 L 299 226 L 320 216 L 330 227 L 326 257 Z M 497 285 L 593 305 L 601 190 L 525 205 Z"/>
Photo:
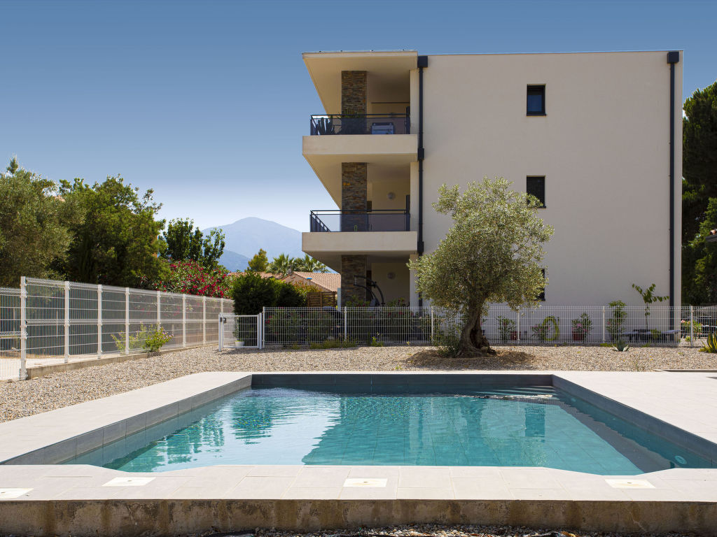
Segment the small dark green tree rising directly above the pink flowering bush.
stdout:
<path fill-rule="evenodd" d="M 224 232 L 212 229 L 205 237 L 189 218 L 170 221 L 161 238 L 166 243 L 162 257 L 174 262 L 196 261 L 207 269 L 214 269 L 224 253 Z"/>

